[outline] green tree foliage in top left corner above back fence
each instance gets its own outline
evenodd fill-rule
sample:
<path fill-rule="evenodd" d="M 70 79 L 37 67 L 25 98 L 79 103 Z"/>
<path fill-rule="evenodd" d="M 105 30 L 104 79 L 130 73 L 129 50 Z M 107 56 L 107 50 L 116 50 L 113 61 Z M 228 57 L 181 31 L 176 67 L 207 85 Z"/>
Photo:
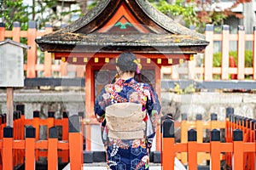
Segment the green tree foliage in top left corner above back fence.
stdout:
<path fill-rule="evenodd" d="M 5 0 L 2 6 L 3 10 L 0 10 L 0 18 L 4 18 L 7 30 L 12 30 L 15 21 L 20 21 L 21 30 L 27 29 L 29 13 L 22 0 Z"/>

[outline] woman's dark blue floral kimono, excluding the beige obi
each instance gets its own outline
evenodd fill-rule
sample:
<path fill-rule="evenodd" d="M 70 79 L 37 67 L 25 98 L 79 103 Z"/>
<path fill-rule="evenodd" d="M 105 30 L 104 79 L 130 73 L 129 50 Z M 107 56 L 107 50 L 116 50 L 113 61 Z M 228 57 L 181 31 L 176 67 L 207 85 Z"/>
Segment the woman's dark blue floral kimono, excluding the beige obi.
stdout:
<path fill-rule="evenodd" d="M 108 122 L 105 120 L 105 108 L 115 103 L 132 102 L 143 105 L 148 123 L 144 139 L 108 138 Z M 157 121 L 160 115 L 160 102 L 154 89 L 146 83 L 139 83 L 130 78 L 118 79 L 113 84 L 102 88 L 96 99 L 95 114 L 102 122 L 102 141 L 107 150 L 107 167 L 111 170 L 148 169 L 149 149 L 154 139 Z"/>

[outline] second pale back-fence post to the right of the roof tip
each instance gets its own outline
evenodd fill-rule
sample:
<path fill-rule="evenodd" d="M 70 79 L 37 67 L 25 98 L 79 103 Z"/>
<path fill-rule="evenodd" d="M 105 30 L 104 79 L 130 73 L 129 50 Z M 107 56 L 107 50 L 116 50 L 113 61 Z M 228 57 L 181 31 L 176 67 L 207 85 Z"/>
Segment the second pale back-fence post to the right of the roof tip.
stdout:
<path fill-rule="evenodd" d="M 221 79 L 229 79 L 230 26 L 222 26 L 222 62 Z"/>

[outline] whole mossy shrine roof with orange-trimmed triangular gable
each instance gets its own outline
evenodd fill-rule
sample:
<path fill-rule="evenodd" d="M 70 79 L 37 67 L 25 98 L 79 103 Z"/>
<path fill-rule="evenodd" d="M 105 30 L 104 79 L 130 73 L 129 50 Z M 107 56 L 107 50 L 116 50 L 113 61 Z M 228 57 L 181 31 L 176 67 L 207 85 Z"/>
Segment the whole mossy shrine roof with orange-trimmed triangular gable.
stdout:
<path fill-rule="evenodd" d="M 41 50 L 55 53 L 83 46 L 75 50 L 195 54 L 208 44 L 204 35 L 174 22 L 145 0 L 102 0 L 79 20 L 36 42 Z"/>

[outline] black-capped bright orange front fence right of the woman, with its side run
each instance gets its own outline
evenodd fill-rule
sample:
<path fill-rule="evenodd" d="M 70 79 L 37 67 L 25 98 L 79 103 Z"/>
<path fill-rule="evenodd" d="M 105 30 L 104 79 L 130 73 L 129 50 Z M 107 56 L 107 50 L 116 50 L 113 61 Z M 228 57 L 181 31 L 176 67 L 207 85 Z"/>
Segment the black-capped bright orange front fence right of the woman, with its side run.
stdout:
<path fill-rule="evenodd" d="M 174 169 L 174 157 L 186 152 L 189 169 L 197 169 L 198 153 L 210 154 L 210 168 L 220 169 L 220 160 L 225 161 L 225 169 L 255 169 L 256 120 L 242 116 L 228 115 L 225 123 L 225 142 L 220 142 L 220 131 L 212 129 L 209 143 L 198 141 L 199 130 L 188 131 L 186 143 L 175 143 L 174 122 L 167 117 L 162 122 L 161 165 L 163 169 Z M 224 153 L 224 155 L 222 154 Z"/>

